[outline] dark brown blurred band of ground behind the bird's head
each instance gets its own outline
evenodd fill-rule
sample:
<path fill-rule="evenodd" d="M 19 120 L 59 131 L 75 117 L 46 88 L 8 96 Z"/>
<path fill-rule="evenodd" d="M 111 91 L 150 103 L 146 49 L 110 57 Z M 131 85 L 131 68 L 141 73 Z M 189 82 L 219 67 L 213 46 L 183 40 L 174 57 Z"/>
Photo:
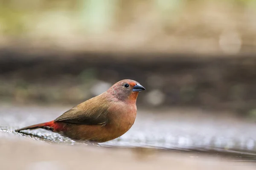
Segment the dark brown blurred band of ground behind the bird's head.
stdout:
<path fill-rule="evenodd" d="M 0 51 L 2 102 L 76 105 L 120 79 L 147 89 L 146 108 L 201 107 L 255 117 L 256 58 L 195 54 Z"/>

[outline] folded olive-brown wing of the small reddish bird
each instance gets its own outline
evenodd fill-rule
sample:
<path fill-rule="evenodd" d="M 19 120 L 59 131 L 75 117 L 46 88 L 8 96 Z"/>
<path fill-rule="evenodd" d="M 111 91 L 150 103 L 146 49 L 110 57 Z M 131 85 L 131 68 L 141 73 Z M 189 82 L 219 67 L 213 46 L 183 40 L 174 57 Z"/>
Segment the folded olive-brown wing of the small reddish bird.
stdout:
<path fill-rule="evenodd" d="M 66 111 L 55 122 L 67 122 L 84 125 L 102 125 L 108 122 L 108 105 L 98 105 L 97 100 L 90 100 Z"/>

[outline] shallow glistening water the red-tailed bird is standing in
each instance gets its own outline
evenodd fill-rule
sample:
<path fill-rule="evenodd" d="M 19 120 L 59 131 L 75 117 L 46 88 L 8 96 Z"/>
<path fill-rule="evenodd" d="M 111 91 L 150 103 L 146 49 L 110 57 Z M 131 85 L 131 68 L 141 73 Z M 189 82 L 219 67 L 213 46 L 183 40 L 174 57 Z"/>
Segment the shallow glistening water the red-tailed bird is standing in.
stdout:
<path fill-rule="evenodd" d="M 61 144 L 81 144 L 43 129 L 13 130 L 40 122 L 47 122 L 70 107 L 0 107 L 1 134 L 20 135 L 39 141 Z M 212 114 L 202 110 L 176 109 L 138 111 L 134 126 L 118 139 L 102 143 L 112 147 L 151 147 L 175 152 L 191 152 L 192 156 L 213 154 L 228 156 L 230 160 L 256 162 L 256 124 L 228 113 Z"/>

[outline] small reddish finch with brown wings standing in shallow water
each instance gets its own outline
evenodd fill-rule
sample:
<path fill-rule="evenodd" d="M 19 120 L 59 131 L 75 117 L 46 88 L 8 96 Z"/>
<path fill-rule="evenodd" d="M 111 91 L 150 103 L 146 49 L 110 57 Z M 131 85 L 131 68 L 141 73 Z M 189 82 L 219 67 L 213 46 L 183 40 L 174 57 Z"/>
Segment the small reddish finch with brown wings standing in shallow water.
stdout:
<path fill-rule="evenodd" d="M 59 133 L 74 141 L 102 143 L 126 133 L 137 116 L 137 96 L 145 88 L 137 81 L 124 79 L 50 122 L 15 130 L 42 128 Z"/>

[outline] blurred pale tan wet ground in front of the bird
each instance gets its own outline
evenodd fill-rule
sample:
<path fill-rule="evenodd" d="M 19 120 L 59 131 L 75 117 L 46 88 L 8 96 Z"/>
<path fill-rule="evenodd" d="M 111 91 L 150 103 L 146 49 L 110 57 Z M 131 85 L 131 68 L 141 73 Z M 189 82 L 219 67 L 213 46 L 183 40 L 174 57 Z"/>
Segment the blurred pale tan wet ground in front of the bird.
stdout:
<path fill-rule="evenodd" d="M 254 170 L 255 164 L 178 152 L 49 144 L 2 133 L 1 170 Z"/>

